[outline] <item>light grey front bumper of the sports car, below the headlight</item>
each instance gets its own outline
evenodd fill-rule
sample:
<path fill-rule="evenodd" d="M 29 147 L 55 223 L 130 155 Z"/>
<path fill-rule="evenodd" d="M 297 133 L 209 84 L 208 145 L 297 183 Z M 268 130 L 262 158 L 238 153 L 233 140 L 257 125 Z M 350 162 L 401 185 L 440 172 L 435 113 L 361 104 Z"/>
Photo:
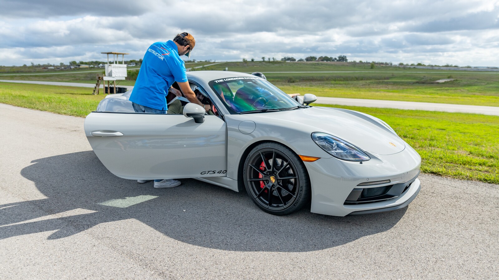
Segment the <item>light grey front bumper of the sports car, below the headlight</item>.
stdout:
<path fill-rule="evenodd" d="M 421 189 L 417 179 L 421 165 L 419 154 L 407 146 L 396 154 L 369 155 L 371 160 L 364 161 L 363 164 L 336 158 L 306 162 L 312 186 L 310 211 L 332 216 L 361 215 L 397 210 L 414 200 Z M 383 180 L 390 182 L 360 188 L 400 185 L 411 181 L 412 183 L 393 198 L 368 203 L 350 203 L 351 193 L 359 188 L 358 184 Z"/>

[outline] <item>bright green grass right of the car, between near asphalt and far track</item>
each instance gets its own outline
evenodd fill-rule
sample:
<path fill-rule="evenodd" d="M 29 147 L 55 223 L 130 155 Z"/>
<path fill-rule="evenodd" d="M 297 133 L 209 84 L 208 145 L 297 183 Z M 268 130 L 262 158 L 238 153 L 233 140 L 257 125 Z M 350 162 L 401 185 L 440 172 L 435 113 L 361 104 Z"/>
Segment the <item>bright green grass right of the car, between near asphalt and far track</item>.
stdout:
<path fill-rule="evenodd" d="M 319 105 L 360 111 L 388 123 L 421 155 L 421 171 L 499 184 L 499 117 Z"/>

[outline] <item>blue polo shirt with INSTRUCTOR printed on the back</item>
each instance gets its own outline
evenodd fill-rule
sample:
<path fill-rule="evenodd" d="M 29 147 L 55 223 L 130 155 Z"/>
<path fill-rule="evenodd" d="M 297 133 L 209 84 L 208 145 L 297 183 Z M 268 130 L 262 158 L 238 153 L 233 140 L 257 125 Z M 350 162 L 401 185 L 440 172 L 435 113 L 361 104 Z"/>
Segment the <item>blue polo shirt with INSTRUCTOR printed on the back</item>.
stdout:
<path fill-rule="evenodd" d="M 129 100 L 142 106 L 168 110 L 166 95 L 175 82 L 187 82 L 186 67 L 172 40 L 152 44 L 144 55 Z"/>

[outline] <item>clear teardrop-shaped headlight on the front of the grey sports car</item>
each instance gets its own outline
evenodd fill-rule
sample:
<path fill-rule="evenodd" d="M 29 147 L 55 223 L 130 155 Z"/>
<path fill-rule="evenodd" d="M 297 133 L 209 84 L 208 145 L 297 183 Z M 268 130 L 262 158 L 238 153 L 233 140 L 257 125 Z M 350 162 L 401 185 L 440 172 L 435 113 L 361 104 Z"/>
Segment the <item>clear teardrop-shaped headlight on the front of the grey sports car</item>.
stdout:
<path fill-rule="evenodd" d="M 343 160 L 365 161 L 371 159 L 356 146 L 329 134 L 314 132 L 312 140 L 330 155 Z"/>

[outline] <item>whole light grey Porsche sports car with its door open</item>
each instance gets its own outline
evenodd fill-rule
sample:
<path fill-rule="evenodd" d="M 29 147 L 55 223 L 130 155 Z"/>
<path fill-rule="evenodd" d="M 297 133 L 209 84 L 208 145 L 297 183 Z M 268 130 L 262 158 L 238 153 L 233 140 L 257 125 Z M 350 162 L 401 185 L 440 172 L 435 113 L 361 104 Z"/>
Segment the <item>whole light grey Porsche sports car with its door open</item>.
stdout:
<path fill-rule="evenodd" d="M 107 96 L 86 117 L 88 141 L 113 174 L 246 190 L 275 215 L 304 205 L 334 216 L 386 212 L 418 194 L 421 157 L 380 119 L 308 106 L 315 96 L 295 100 L 246 73 L 187 76 L 215 114 L 193 103 L 183 114 L 135 113 L 129 91 Z"/>

